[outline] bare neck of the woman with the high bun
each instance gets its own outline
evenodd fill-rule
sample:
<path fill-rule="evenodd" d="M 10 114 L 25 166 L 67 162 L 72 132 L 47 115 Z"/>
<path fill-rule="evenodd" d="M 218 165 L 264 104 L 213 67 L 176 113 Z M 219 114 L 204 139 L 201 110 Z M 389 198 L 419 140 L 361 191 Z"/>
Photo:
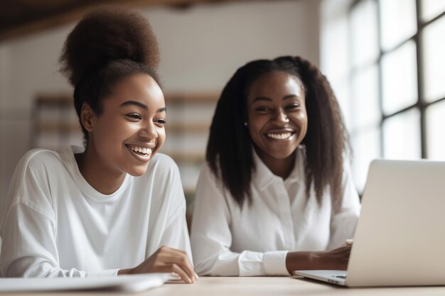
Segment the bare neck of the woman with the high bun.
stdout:
<path fill-rule="evenodd" d="M 98 192 L 109 195 L 122 185 L 124 172 L 114 172 L 100 161 L 96 150 L 90 143 L 83 153 L 75 154 L 75 160 L 82 177 Z"/>

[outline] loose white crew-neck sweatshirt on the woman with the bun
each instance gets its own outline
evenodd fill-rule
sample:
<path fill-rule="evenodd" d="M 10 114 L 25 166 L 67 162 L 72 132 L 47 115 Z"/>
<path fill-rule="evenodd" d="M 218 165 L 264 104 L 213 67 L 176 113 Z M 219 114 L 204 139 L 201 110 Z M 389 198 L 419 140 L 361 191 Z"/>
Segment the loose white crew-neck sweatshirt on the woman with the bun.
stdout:
<path fill-rule="evenodd" d="M 1 223 L 4 277 L 98 277 L 133 268 L 166 245 L 191 258 L 178 167 L 156 154 L 110 195 L 82 177 L 73 147 L 35 149 L 17 165 Z"/>

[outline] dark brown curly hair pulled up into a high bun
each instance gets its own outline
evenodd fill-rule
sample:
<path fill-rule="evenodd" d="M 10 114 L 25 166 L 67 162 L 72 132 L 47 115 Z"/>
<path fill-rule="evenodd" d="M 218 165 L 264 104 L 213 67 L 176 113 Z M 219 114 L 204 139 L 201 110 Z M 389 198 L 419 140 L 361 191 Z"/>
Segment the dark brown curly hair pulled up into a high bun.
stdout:
<path fill-rule="evenodd" d="M 134 74 L 150 75 L 158 84 L 159 46 L 149 22 L 135 11 L 118 6 L 87 13 L 65 40 L 60 72 L 74 87 L 74 106 L 102 114 L 102 99 L 117 82 Z M 82 125 L 85 143 L 87 130 Z"/>

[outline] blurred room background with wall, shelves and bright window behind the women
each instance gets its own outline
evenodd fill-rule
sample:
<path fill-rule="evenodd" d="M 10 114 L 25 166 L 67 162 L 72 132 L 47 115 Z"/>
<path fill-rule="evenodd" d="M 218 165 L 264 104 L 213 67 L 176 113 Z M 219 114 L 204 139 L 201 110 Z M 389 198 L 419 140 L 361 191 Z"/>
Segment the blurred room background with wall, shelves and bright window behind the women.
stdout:
<path fill-rule="evenodd" d="M 0 209 L 30 148 L 82 146 L 58 56 L 100 4 L 141 11 L 156 33 L 168 109 L 161 152 L 191 209 L 218 96 L 250 60 L 301 55 L 341 103 L 363 191 L 374 158 L 445 160 L 445 0 L 0 1 Z"/>

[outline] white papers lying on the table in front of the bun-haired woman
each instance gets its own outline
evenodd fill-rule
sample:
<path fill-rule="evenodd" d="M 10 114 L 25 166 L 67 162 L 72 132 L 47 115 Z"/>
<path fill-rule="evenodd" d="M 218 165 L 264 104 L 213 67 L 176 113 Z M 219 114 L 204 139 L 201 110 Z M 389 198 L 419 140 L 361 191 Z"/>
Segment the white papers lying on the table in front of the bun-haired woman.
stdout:
<path fill-rule="evenodd" d="M 64 290 L 139 292 L 160 287 L 170 277 L 170 273 L 146 273 L 105 278 L 0 278 L 0 292 Z"/>

